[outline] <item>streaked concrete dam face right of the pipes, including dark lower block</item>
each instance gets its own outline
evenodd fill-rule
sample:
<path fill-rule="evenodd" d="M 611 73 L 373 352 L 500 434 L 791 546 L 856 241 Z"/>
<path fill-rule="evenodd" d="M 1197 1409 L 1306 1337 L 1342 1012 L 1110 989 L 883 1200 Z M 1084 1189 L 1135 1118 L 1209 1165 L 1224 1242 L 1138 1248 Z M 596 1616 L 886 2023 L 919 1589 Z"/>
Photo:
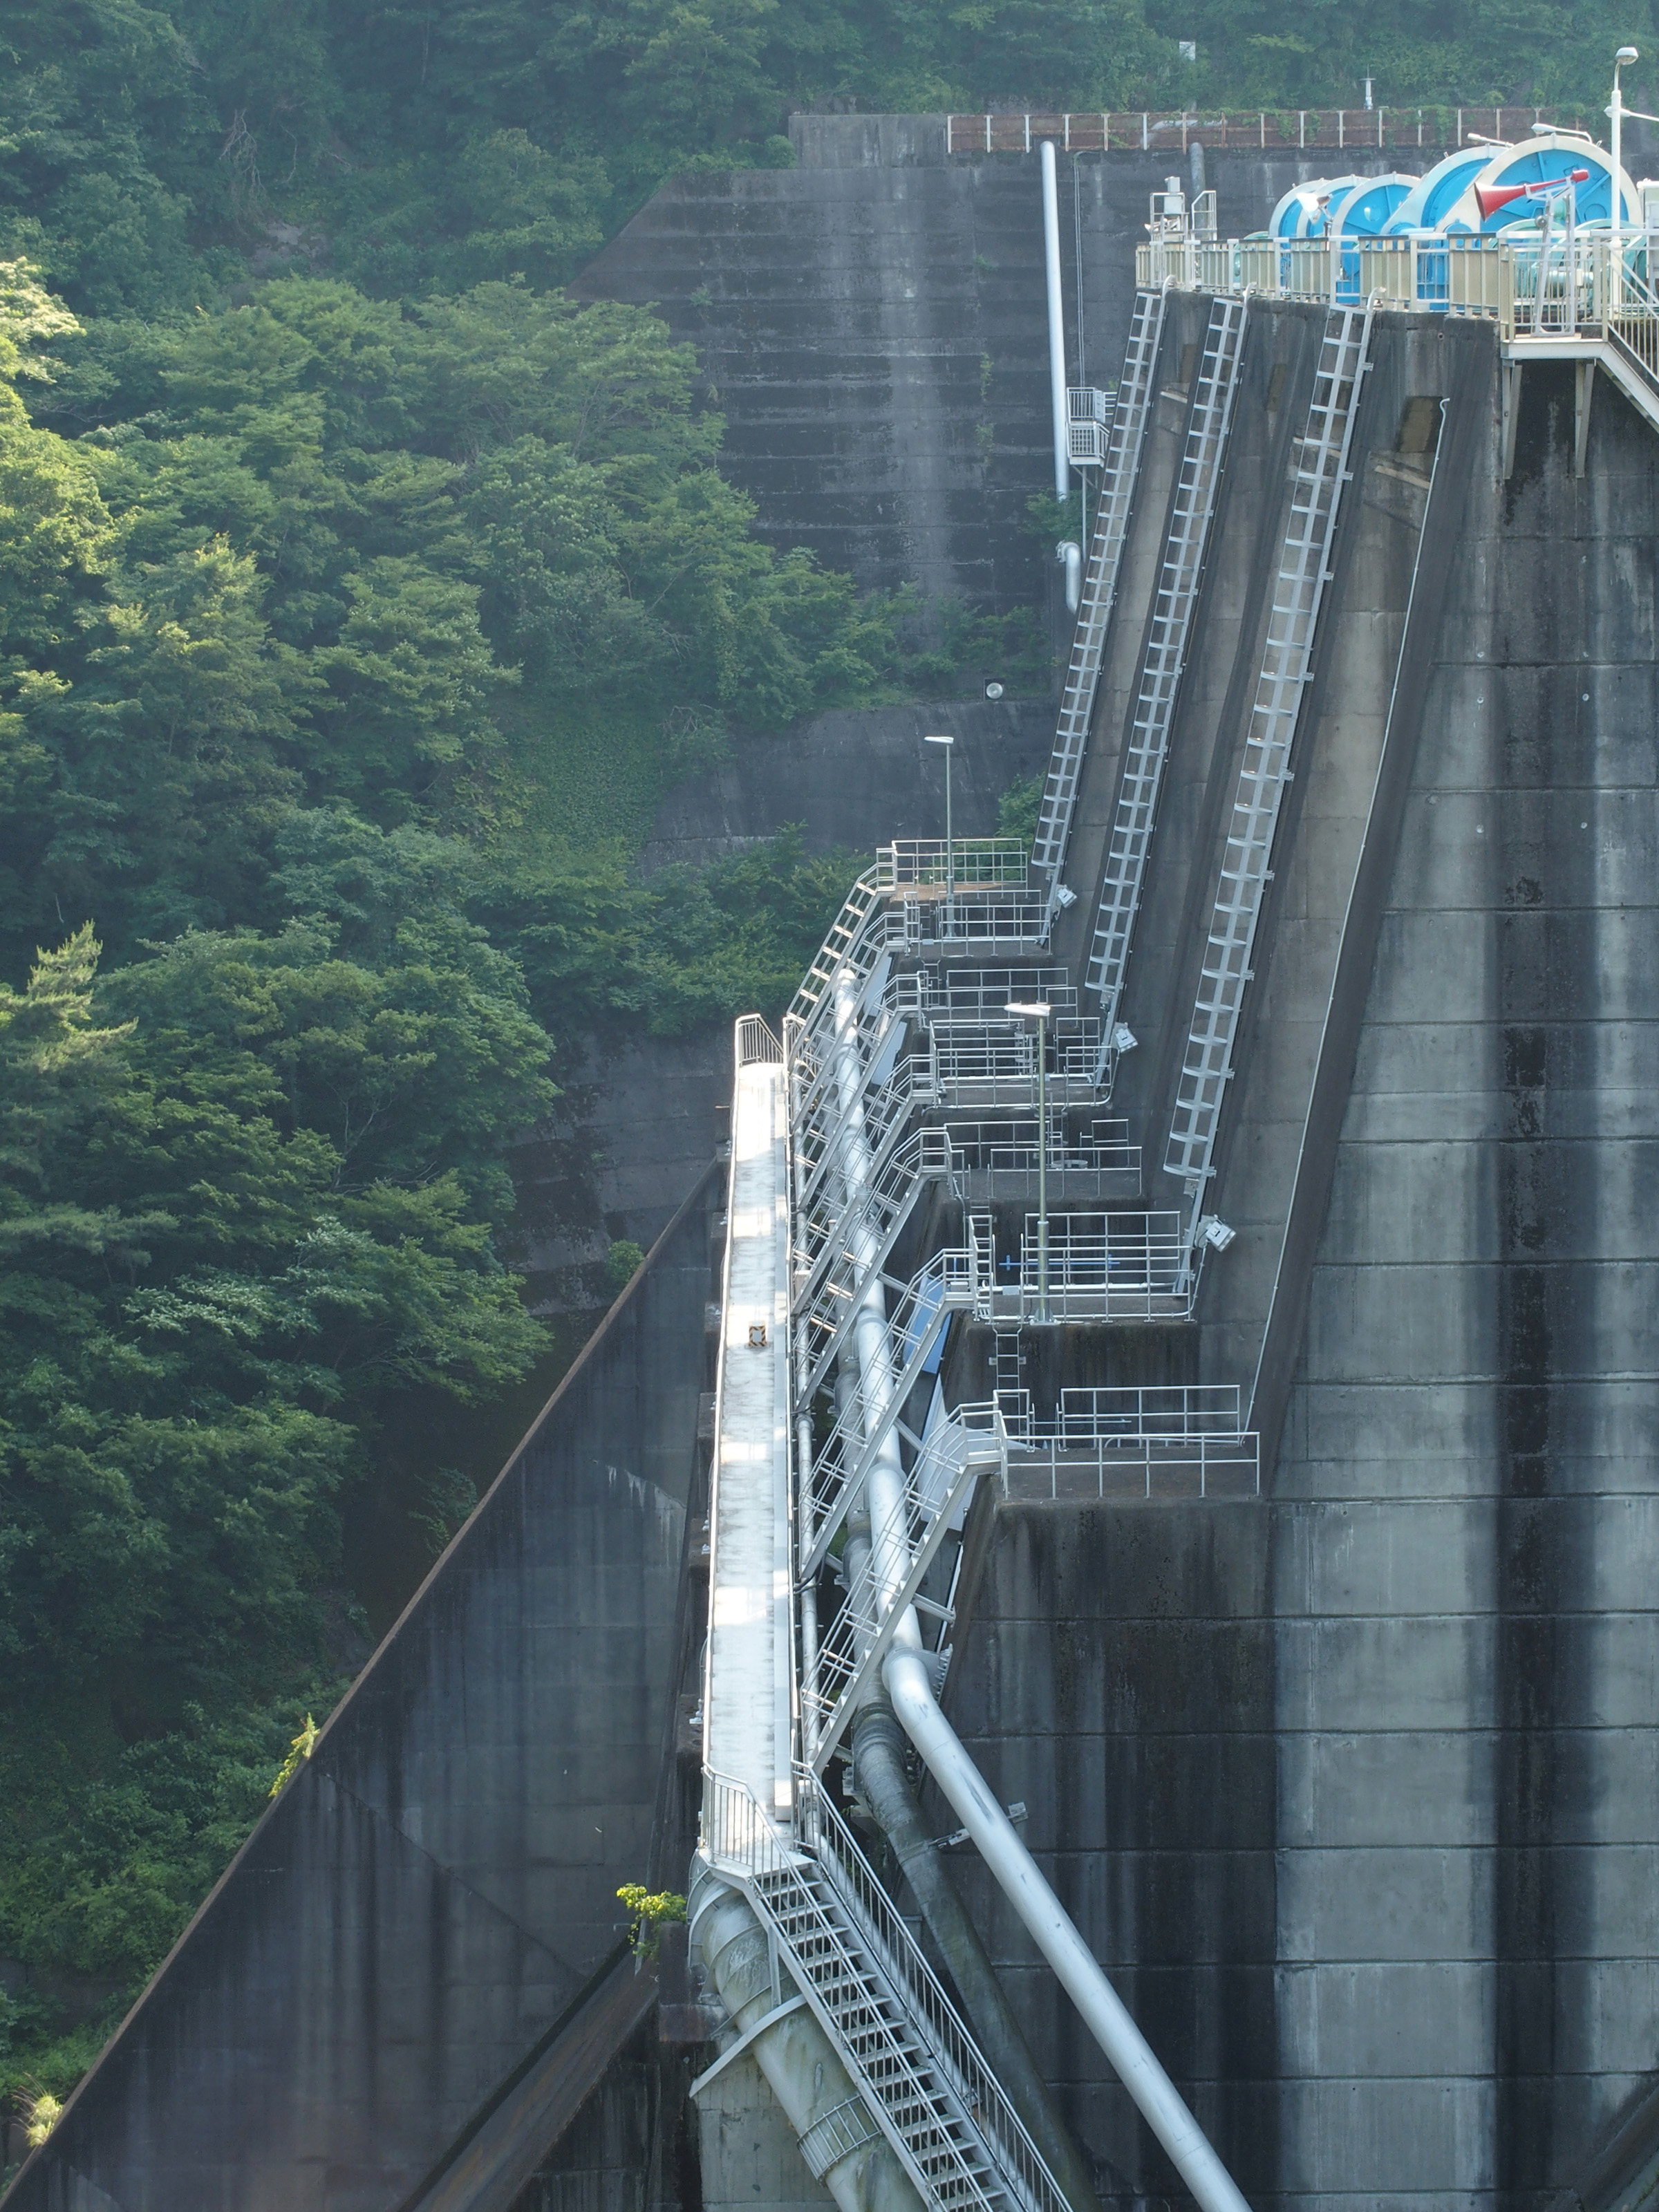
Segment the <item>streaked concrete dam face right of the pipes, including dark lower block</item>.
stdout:
<path fill-rule="evenodd" d="M 949 1686 L 1245 2192 L 1281 2205 L 1613 2203 L 1606 2174 L 1655 2148 L 1648 2115 L 1599 2152 L 1659 2059 L 1659 442 L 1601 385 L 1575 482 L 1571 374 L 1528 369 L 1498 484 L 1493 365 L 1489 332 L 1385 321 L 1356 429 L 1223 1117 L 1239 1243 L 1197 1329 L 1203 1380 L 1248 1389 L 1276 1276 L 1270 1495 L 1004 1509 Z M 1453 482 L 1422 529 L 1405 425 L 1442 396 Z M 1248 690 L 1223 677 L 1254 672 L 1234 611 L 1267 524 L 1239 526 L 1248 442 L 1230 467 L 1144 1035 L 1183 1029 L 1221 836 L 1181 779 L 1230 785 Z M 1115 1104 L 1161 1150 L 1157 1060 Z M 1168 2190 L 964 1880 L 1073 2121 Z"/>

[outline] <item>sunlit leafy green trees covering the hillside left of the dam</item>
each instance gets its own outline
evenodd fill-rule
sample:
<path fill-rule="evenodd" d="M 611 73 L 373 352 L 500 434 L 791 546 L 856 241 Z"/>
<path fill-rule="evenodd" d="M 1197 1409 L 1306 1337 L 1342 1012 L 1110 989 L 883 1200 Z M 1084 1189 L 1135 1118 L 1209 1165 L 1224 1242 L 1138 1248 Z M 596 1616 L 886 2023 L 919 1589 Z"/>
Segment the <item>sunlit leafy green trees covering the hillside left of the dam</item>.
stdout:
<path fill-rule="evenodd" d="M 144 84 L 186 53 L 142 9 L 82 29 Z M 518 274 L 553 250 L 529 142 L 458 166 L 507 241 L 456 248 L 469 290 L 232 299 L 142 188 L 142 84 L 117 131 L 73 40 L 20 51 L 150 265 L 51 241 L 82 201 L 38 137 L 24 232 L 82 312 L 0 265 L 13 2104 L 73 2086 L 332 1705 L 365 1553 L 407 1584 L 471 1511 L 451 1409 L 544 1371 L 513 1159 L 551 1068 L 774 1002 L 838 902 L 799 836 L 639 883 L 630 830 L 728 719 L 887 681 L 902 615 L 752 538 L 661 323 Z M 155 95 L 186 166 L 197 91 Z M 219 181 L 230 237 L 252 181 Z M 597 836 L 595 748 L 633 763 Z M 106 2013 L 58 2033 L 62 1975 Z"/>

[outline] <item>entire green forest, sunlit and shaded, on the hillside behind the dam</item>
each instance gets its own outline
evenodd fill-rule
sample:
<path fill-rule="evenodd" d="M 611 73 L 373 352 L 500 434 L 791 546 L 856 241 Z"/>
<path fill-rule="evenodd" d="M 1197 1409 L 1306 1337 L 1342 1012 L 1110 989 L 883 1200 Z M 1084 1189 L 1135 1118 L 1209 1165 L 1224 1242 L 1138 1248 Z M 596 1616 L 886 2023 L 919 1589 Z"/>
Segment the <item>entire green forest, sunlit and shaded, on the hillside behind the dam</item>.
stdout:
<path fill-rule="evenodd" d="M 0 2099 L 73 2084 L 568 1356 L 531 1239 L 633 1263 L 591 1040 L 776 1006 L 834 914 L 799 836 L 637 880 L 661 787 L 964 635 L 768 551 L 690 349 L 560 285 L 792 106 L 1595 111 L 1650 38 L 0 0 Z"/>

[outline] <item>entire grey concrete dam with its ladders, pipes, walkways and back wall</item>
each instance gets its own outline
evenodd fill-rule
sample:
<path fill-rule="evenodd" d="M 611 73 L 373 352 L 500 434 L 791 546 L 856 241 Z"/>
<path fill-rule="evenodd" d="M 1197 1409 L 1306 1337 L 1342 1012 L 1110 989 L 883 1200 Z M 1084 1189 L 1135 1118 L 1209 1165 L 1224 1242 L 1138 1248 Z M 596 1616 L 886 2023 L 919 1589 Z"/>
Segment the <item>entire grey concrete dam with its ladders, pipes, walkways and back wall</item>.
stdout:
<path fill-rule="evenodd" d="M 588 285 L 668 303 L 681 254 L 670 312 L 719 301 L 768 529 L 823 478 L 867 577 L 1029 593 L 1035 157 L 816 122 L 823 168 L 803 126 L 690 179 Z M 1144 422 L 1055 858 L 995 845 L 978 752 L 960 849 L 869 792 L 878 867 L 739 1024 L 737 1157 L 9 2212 L 1228 2203 L 1055 1916 L 1250 2205 L 1652 2201 L 1659 436 L 1571 358 L 1515 389 L 1493 321 L 1137 294 L 1124 161 L 1084 314 Z M 975 478 L 978 367 L 942 442 L 891 422 L 980 345 Z M 825 438 L 863 411 L 847 507 L 768 447 L 807 361 Z M 690 1891 L 639 1971 L 628 1878 Z"/>

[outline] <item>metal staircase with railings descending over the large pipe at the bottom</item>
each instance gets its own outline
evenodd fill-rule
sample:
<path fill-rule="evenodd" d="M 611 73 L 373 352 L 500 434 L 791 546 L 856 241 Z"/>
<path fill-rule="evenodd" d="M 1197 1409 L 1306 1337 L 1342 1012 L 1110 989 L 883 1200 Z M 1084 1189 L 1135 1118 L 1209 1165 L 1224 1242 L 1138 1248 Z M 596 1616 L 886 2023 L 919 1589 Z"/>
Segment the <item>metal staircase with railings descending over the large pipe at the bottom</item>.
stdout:
<path fill-rule="evenodd" d="M 858 2084 L 801 2141 L 823 2179 L 847 2150 L 891 2146 L 940 2212 L 1068 2212 L 956 2006 L 898 1918 L 845 1820 L 796 1781 L 801 1847 L 721 1774 L 703 1778 L 703 1851 L 754 1907 L 783 1971 Z"/>

